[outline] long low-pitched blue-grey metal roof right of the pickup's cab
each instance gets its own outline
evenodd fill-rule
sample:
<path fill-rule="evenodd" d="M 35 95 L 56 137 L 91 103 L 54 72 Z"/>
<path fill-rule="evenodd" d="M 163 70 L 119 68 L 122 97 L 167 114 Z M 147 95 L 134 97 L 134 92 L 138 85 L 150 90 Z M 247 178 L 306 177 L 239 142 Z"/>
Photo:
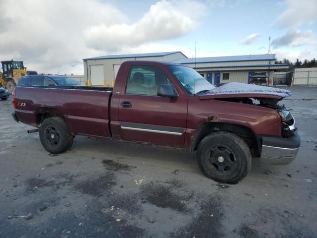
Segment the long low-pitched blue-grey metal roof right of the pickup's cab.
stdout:
<path fill-rule="evenodd" d="M 235 61 L 259 61 L 275 60 L 275 54 L 246 55 L 246 56 L 221 56 L 196 58 L 196 63 L 235 62 Z M 195 63 L 195 58 L 174 60 L 175 63 Z"/>

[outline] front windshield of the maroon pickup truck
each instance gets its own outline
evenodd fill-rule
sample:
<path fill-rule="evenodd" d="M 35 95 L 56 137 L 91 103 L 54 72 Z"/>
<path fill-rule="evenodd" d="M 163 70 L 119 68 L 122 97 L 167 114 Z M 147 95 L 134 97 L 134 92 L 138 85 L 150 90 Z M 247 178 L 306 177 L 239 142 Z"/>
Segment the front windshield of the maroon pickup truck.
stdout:
<path fill-rule="evenodd" d="M 188 94 L 201 94 L 214 88 L 210 82 L 193 68 L 181 65 L 168 65 L 167 67 L 176 76 Z"/>

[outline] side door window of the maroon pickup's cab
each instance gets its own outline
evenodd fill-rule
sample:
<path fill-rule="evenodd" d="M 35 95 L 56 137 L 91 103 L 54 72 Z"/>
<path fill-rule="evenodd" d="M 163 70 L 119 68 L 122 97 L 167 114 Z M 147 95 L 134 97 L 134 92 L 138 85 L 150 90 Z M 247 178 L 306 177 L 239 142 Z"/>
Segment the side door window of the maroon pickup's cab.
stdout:
<path fill-rule="evenodd" d="M 159 86 L 170 84 L 167 75 L 157 67 L 132 66 L 125 93 L 158 96 Z"/>

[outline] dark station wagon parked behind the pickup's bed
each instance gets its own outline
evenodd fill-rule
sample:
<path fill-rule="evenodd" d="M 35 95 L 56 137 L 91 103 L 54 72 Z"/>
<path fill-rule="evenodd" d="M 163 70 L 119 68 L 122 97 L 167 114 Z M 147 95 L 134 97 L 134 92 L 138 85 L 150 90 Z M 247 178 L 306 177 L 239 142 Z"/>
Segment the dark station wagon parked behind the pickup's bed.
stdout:
<path fill-rule="evenodd" d="M 80 83 L 70 77 L 62 75 L 27 75 L 19 78 L 17 86 L 75 86 Z"/>

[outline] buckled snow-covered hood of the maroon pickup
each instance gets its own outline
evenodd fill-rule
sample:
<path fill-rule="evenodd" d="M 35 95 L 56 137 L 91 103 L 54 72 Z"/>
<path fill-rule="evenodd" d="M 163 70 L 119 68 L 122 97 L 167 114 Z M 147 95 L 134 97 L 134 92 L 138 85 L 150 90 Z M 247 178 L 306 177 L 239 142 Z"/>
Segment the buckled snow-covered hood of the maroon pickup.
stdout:
<path fill-rule="evenodd" d="M 291 91 L 246 83 L 226 83 L 201 95 L 200 99 L 230 97 L 265 97 L 282 99 L 291 96 Z"/>

